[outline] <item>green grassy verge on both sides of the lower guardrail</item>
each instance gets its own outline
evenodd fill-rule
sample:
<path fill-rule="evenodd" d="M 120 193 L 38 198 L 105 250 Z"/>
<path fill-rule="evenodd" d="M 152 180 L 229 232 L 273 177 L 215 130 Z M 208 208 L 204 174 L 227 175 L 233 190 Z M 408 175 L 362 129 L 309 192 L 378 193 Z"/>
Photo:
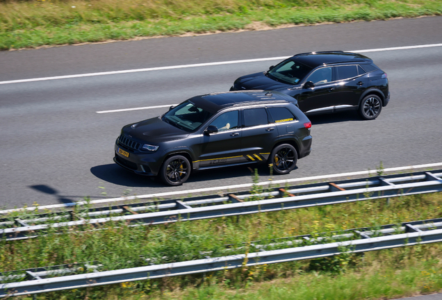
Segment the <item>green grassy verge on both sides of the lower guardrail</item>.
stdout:
<path fill-rule="evenodd" d="M 256 187 L 255 187 L 256 190 Z M 22 215 L 22 218 L 26 216 Z M 247 242 L 442 217 L 442 194 L 399 197 L 275 213 L 147 227 L 106 224 L 101 231 L 0 241 L 0 270 L 98 261 L 102 270 L 256 251 Z M 327 236 L 327 234 L 325 235 Z M 246 242 L 244 245 L 243 242 Z M 245 247 L 239 249 L 239 247 Z M 287 246 L 289 247 L 289 246 Z M 293 247 L 293 246 L 290 246 Z M 186 253 L 183 256 L 183 253 Z M 442 244 L 334 258 L 243 267 L 194 276 L 73 291 L 38 299 L 381 299 L 442 289 Z M 22 297 L 26 299 L 26 297 Z M 385 298 L 383 298 L 385 299 Z"/>

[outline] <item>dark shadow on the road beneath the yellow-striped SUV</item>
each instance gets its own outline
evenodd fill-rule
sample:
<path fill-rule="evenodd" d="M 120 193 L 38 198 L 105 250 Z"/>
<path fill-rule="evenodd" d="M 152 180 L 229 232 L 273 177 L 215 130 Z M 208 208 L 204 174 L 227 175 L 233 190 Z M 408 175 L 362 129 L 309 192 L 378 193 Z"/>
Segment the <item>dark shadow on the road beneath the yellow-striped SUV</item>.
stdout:
<path fill-rule="evenodd" d="M 190 174 L 190 177 L 188 178 L 186 183 L 195 183 L 200 181 L 217 181 L 226 178 L 236 178 L 244 176 L 252 177 L 255 168 L 258 169 L 259 176 L 267 177 L 270 175 L 267 165 L 223 167 L 219 169 L 209 169 L 200 172 L 194 172 Z M 102 181 L 113 183 L 115 185 L 123 185 L 133 188 L 165 187 L 164 183 L 154 177 L 142 176 L 132 173 L 116 164 L 99 165 L 96 167 L 92 167 L 90 169 L 90 172 L 94 174 L 94 176 L 96 176 L 97 178 L 100 178 Z M 238 184 L 240 183 L 238 182 Z"/>

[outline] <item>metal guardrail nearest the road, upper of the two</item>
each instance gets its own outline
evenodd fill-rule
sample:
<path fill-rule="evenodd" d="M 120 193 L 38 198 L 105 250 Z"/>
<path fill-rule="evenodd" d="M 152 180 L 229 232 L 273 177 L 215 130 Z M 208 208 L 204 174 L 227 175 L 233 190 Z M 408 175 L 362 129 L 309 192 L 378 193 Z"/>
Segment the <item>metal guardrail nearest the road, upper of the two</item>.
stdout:
<path fill-rule="evenodd" d="M 106 222 L 128 222 L 132 226 L 153 225 L 170 222 L 208 219 L 216 217 L 239 216 L 253 213 L 265 213 L 277 210 L 307 208 L 311 206 L 324 206 L 337 203 L 365 201 L 371 199 L 384 199 L 391 197 L 408 196 L 442 192 L 442 170 L 434 172 L 418 172 L 414 175 L 390 175 L 377 178 L 363 178 L 335 183 L 316 183 L 298 185 L 287 190 L 279 189 L 262 194 L 229 194 L 227 197 L 207 197 L 201 199 L 166 200 L 156 203 L 137 203 L 101 209 L 91 209 L 80 216 L 72 212 L 62 212 L 56 217 L 40 217 L 28 220 L 8 219 L 0 220 L 0 226 L 15 226 L 14 228 L 0 229 L 0 237 L 6 240 L 23 240 L 35 238 L 49 228 L 64 228 L 69 226 L 83 226 L 85 224 L 104 224 Z M 284 196 L 289 197 L 284 197 Z M 251 197 L 277 197 L 259 201 L 247 201 Z M 229 203 L 231 202 L 231 203 Z M 196 207 L 194 207 L 196 206 Z M 200 207 L 199 207 L 200 206 Z M 202 207 L 201 207 L 202 206 Z M 154 213 L 138 213 L 146 210 L 159 210 Z M 126 212 L 127 215 L 115 217 L 102 217 Z M 69 222 L 56 222 L 57 219 L 66 217 L 86 217 L 92 219 L 79 219 Z M 95 219 L 94 219 L 95 217 Z M 29 225 L 38 222 L 51 224 Z"/>

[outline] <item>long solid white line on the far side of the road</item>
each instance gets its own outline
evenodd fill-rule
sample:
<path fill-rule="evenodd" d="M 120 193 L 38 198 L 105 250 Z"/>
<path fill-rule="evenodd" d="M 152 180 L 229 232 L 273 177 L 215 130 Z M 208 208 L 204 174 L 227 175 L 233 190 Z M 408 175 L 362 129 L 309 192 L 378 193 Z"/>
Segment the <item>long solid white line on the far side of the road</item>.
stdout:
<path fill-rule="evenodd" d="M 419 48 L 441 47 L 441 46 L 442 46 L 442 44 L 425 44 L 425 45 L 405 46 L 405 47 L 355 50 L 355 51 L 349 51 L 349 52 L 366 53 L 366 52 L 419 49 Z M 193 65 L 176 65 L 176 66 L 168 66 L 168 67 L 152 67 L 152 68 L 145 68 L 145 69 L 130 69 L 130 70 L 111 71 L 111 72 L 75 74 L 75 75 L 53 76 L 53 77 L 43 77 L 43 78 L 29 78 L 29 79 L 19 79 L 19 80 L 15 80 L 15 81 L 0 81 L 0 85 L 1 84 L 9 84 L 9 83 L 26 83 L 26 82 L 33 82 L 33 81 L 49 81 L 49 80 L 65 79 L 65 78 L 79 78 L 79 77 L 126 74 L 126 73 L 136 73 L 136 72 L 149 72 L 149 71 L 159 71 L 159 70 L 165 70 L 165 69 L 182 69 L 182 68 L 188 68 L 188 67 L 207 67 L 207 66 L 212 66 L 212 65 L 229 65 L 229 64 L 236 64 L 236 63 L 255 63 L 255 62 L 266 61 L 266 60 L 283 60 L 283 59 L 286 59 L 289 57 L 291 57 L 291 56 L 279 56 L 279 57 L 273 57 L 273 58 L 255 58 L 255 59 L 248 59 L 248 60 L 228 60 L 228 61 L 224 61 L 224 62 L 200 63 L 200 64 L 193 64 Z"/>

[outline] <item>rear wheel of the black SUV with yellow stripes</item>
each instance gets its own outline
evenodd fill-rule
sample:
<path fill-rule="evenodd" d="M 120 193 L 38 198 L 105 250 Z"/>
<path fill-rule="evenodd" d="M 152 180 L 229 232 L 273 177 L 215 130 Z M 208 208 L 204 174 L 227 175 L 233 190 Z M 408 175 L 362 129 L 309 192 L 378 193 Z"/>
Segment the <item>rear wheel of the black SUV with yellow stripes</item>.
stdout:
<path fill-rule="evenodd" d="M 270 153 L 270 164 L 272 164 L 273 173 L 282 175 L 288 174 L 295 169 L 297 163 L 297 152 L 295 147 L 290 144 L 280 144 Z"/>

